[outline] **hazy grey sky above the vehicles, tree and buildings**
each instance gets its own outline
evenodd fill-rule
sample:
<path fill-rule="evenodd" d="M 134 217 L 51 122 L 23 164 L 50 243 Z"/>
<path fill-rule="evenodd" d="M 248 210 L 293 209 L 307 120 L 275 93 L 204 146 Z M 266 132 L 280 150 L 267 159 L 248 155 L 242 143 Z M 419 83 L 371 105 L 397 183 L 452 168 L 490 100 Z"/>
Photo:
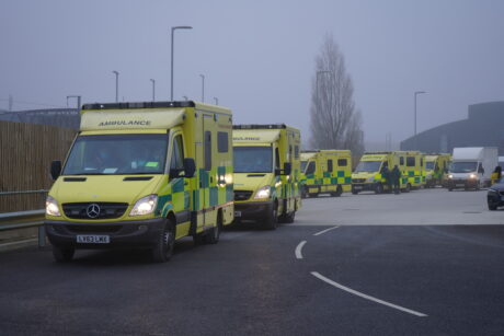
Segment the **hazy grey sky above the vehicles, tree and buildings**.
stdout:
<path fill-rule="evenodd" d="M 66 105 L 170 93 L 233 109 L 236 123 L 287 123 L 309 134 L 314 56 L 325 33 L 345 55 L 366 141 L 394 141 L 465 118 L 467 105 L 504 100 L 504 1 L 154 1 L 0 2 L 0 108 L 15 101 Z M 15 104 L 14 108 L 43 106 Z"/>

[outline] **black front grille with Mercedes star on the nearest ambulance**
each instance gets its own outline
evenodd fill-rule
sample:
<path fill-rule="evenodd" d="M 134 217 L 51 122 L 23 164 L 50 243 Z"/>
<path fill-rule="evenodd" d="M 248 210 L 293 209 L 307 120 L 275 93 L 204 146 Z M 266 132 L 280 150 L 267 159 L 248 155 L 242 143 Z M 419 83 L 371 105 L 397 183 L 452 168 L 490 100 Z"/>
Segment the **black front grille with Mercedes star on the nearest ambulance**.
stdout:
<path fill-rule="evenodd" d="M 127 208 L 126 202 L 67 202 L 62 205 L 65 216 L 68 218 L 91 220 L 119 218 Z"/>

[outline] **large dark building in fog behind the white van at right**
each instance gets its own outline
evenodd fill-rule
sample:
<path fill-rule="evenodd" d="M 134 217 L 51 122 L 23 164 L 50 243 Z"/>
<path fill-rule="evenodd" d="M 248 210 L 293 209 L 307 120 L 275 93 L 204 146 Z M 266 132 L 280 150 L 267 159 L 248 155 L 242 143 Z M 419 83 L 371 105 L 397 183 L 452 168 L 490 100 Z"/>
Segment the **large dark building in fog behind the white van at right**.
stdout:
<path fill-rule="evenodd" d="M 469 117 L 440 125 L 401 142 L 401 150 L 448 153 L 454 147 L 496 147 L 504 155 L 504 102 L 469 105 Z"/>

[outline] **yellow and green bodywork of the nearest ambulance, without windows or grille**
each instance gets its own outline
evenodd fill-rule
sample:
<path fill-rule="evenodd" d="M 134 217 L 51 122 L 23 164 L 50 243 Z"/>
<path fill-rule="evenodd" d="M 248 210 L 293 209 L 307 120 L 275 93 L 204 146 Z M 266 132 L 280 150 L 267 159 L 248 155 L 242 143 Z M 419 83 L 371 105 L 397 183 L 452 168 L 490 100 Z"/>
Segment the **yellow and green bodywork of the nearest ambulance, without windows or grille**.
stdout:
<path fill-rule="evenodd" d="M 231 111 L 193 102 L 179 105 L 177 107 L 137 107 L 130 104 L 122 108 L 103 109 L 87 109 L 84 106 L 81 111 L 81 130 L 78 137 L 122 134 L 167 135 L 167 161 L 148 163 L 152 166 L 162 164 L 165 170 L 161 174 L 147 175 L 82 174 L 78 175 L 82 178 L 79 183 L 67 182 L 67 177 L 70 176 L 61 175 L 49 192 L 49 196 L 58 202 L 61 216 L 46 216 L 46 219 L 96 225 L 171 217 L 177 220 L 177 239 L 214 228 L 217 224 L 218 213 L 221 215 L 222 224 L 231 223 L 233 220 Z M 209 136 L 205 152 L 206 134 Z M 183 177 L 183 175 L 170 177 L 169 167 L 174 157 L 175 137 L 179 137 L 177 139 L 182 137 L 183 158 L 191 158 L 195 162 L 196 172 L 193 177 Z M 220 146 L 226 151 L 221 150 Z M 211 155 L 211 159 L 207 158 L 210 165 L 205 161 L 208 153 Z M 136 176 L 151 178 L 135 181 Z M 133 181 L 127 181 L 128 177 Z M 148 195 L 158 196 L 156 210 L 145 216 L 130 216 L 137 200 Z M 69 218 L 64 206 L 79 202 L 127 204 L 127 209 L 121 217 L 113 219 Z"/>

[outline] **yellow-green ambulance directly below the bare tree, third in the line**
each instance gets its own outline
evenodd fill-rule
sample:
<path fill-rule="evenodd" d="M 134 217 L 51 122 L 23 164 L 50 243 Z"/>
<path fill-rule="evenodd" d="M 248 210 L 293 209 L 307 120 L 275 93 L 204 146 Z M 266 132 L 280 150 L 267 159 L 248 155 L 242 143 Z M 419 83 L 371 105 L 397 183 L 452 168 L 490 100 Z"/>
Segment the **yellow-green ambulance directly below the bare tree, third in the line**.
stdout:
<path fill-rule="evenodd" d="M 350 150 L 301 151 L 301 196 L 341 196 L 352 188 Z"/>

